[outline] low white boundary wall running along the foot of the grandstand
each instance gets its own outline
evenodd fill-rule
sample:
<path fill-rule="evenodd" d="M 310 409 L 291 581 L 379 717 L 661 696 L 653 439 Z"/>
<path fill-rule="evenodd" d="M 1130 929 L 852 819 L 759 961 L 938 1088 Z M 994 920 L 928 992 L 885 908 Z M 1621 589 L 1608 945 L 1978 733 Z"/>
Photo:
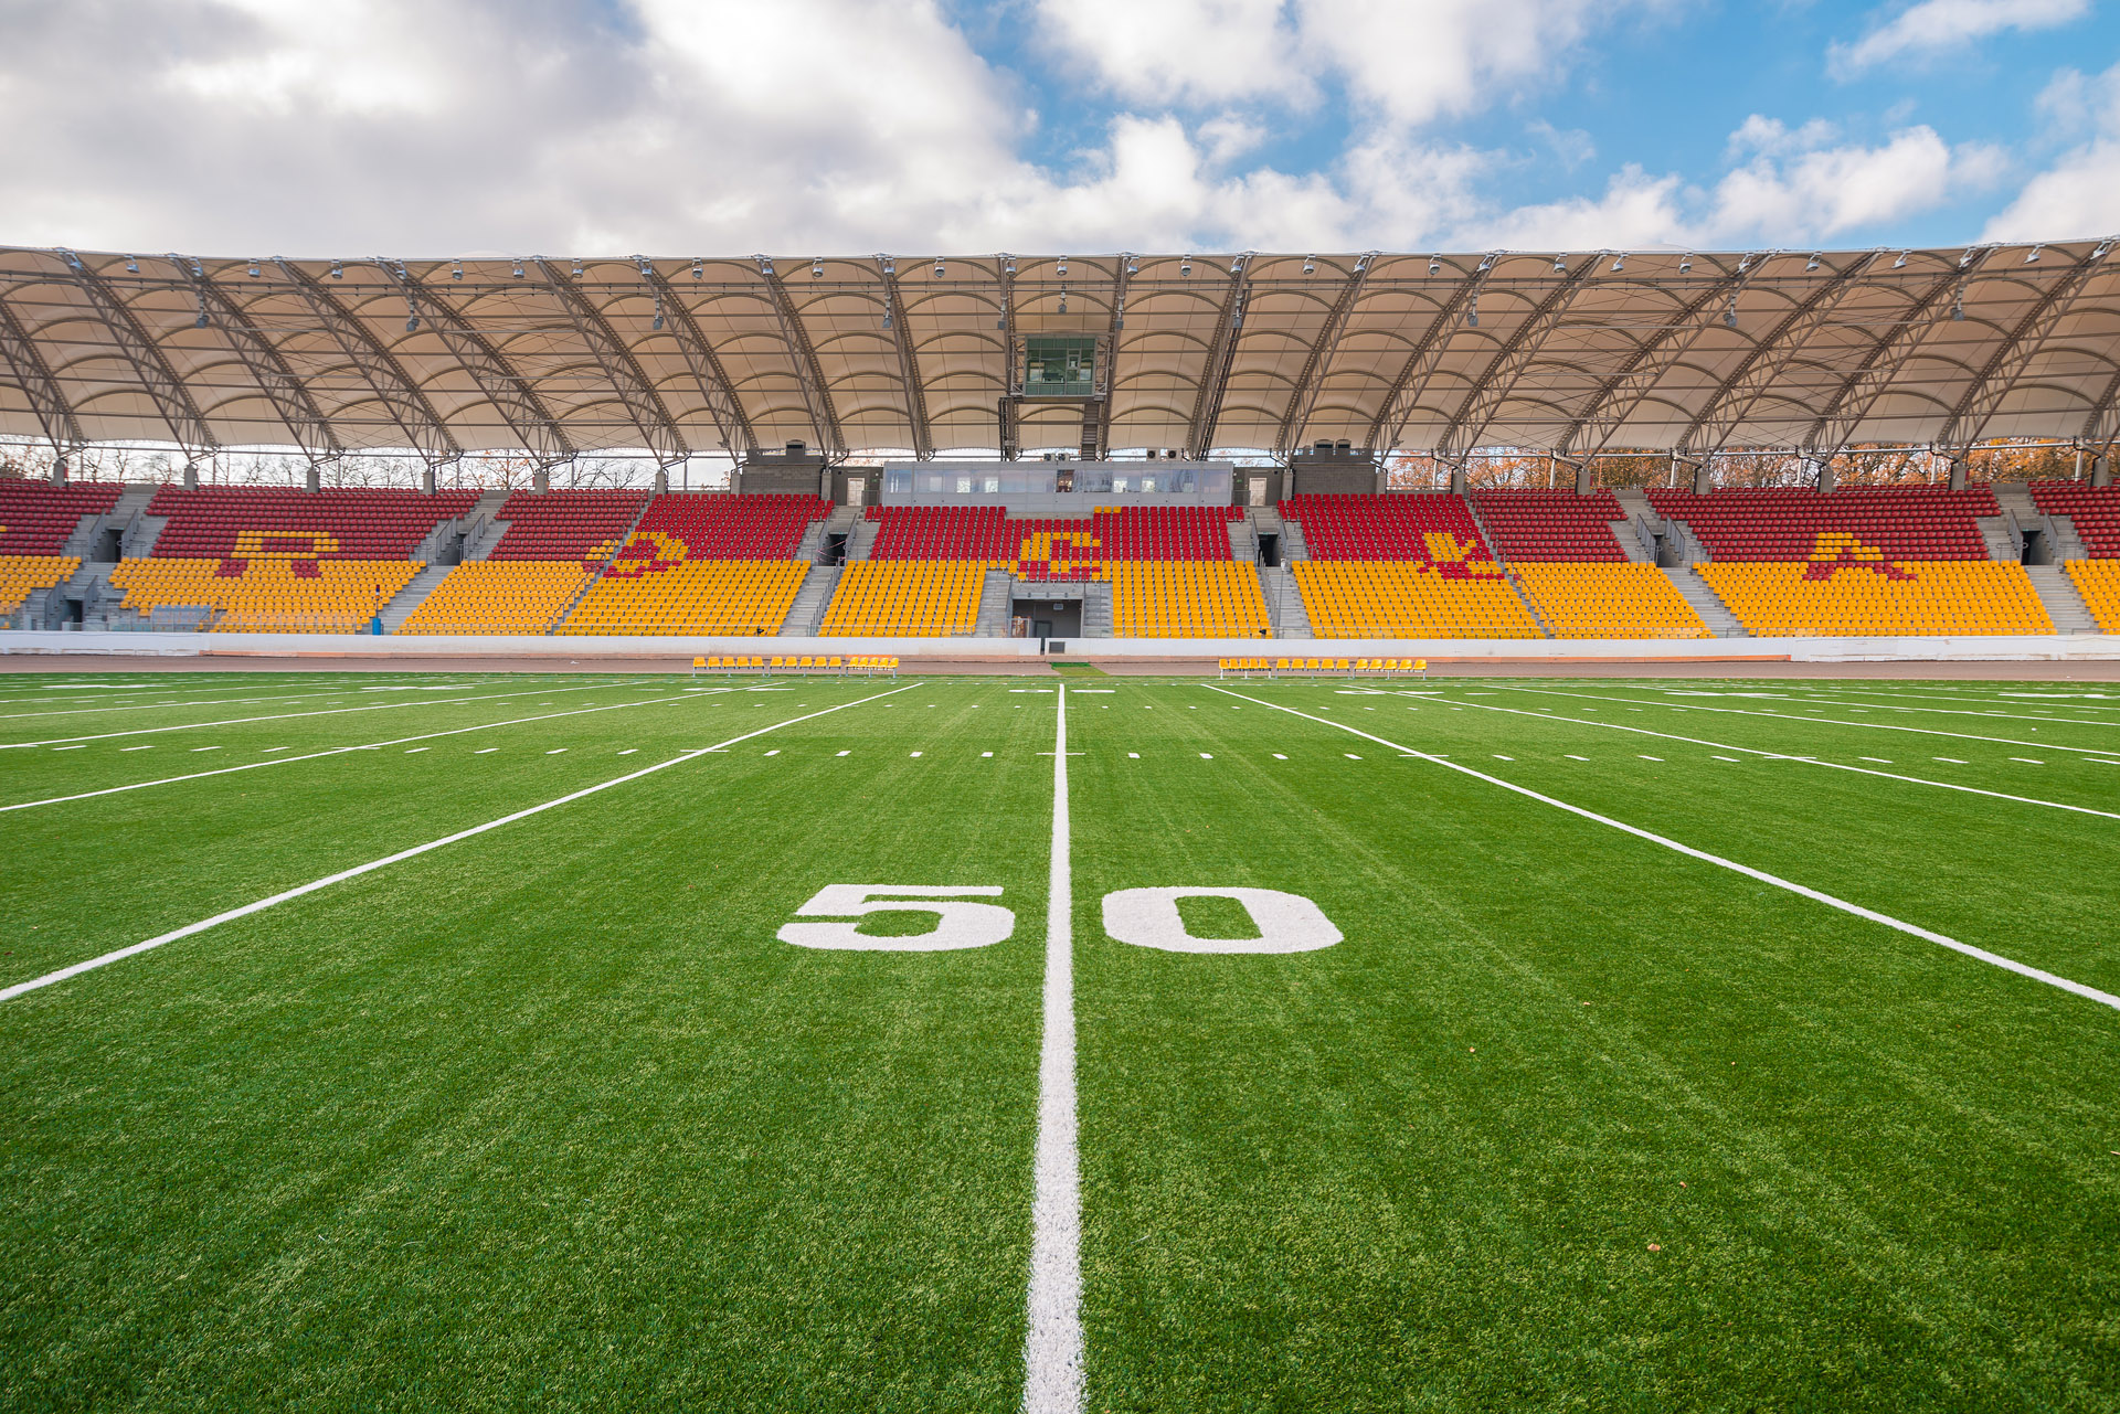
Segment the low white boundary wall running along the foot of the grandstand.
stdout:
<path fill-rule="evenodd" d="M 1431 657 L 1446 661 L 2069 661 L 2120 659 L 2120 634 L 1931 638 L 1068 638 L 1068 657 Z M 1011 661 L 1037 638 L 473 638 L 369 634 L 49 634 L 0 632 L 0 653 L 157 657 L 549 657 L 691 659 L 708 653 Z"/>

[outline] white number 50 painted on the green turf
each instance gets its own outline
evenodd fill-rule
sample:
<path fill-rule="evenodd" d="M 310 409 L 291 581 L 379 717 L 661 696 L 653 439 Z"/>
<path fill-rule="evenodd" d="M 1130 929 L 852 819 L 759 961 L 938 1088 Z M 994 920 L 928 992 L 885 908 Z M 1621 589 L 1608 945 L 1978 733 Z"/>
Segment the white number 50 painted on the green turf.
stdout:
<path fill-rule="evenodd" d="M 999 903 L 965 899 L 992 899 L 999 892 L 999 884 L 827 884 L 795 916 L 840 922 L 789 922 L 778 937 L 797 948 L 842 952 L 988 948 L 1015 933 L 1015 914 Z M 1251 916 L 1259 937 L 1194 937 L 1179 914 L 1179 899 L 1234 899 Z M 935 926 L 926 933 L 876 937 L 844 922 L 869 914 L 935 914 Z M 1340 941 L 1340 929 L 1325 918 L 1325 909 L 1278 888 L 1121 888 L 1105 895 L 1105 933 L 1115 941 L 1162 952 L 1314 952 Z"/>

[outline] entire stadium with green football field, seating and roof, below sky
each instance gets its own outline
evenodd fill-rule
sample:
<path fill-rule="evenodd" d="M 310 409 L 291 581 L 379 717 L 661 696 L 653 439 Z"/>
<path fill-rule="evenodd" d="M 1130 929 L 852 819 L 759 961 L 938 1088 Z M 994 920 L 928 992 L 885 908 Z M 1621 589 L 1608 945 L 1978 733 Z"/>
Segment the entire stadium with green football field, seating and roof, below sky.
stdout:
<path fill-rule="evenodd" d="M 0 248 L 0 1406 L 2120 1408 L 2120 237 L 1399 244 Z"/>

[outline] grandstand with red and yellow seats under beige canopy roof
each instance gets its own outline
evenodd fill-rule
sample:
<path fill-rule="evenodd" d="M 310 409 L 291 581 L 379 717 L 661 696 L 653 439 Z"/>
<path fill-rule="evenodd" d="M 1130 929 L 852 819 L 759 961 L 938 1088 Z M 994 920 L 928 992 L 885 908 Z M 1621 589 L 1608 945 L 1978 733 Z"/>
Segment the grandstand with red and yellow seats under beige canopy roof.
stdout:
<path fill-rule="evenodd" d="M 0 435 L 53 469 L 0 483 L 0 615 L 19 630 L 2120 632 L 2109 240 L 918 261 L 8 248 L 0 312 Z M 1976 479 L 1997 441 L 2046 445 L 2069 477 Z M 172 447 L 170 481 L 74 479 L 100 443 Z M 1908 447 L 1933 483 L 1844 471 Z M 216 483 L 269 449 L 307 485 Z M 1503 452 L 1541 460 L 1545 485 L 1476 485 Z M 1762 452 L 1804 483 L 1719 483 L 1719 460 Z M 324 488 L 335 460 L 373 454 L 405 485 Z M 452 490 L 483 454 L 528 485 Z M 653 464 L 653 485 L 553 488 L 602 454 Z M 1408 454 L 1442 479 L 1391 485 Z M 727 490 L 670 490 L 697 456 Z M 1605 485 L 1615 458 L 1660 475 Z"/>

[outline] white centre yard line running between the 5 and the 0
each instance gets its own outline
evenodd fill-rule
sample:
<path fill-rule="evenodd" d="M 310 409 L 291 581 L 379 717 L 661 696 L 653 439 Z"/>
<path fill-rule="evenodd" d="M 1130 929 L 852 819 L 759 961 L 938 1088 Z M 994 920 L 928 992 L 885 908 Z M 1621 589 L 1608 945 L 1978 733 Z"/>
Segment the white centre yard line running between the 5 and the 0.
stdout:
<path fill-rule="evenodd" d="M 1039 1153 L 1030 1202 L 1024 1414 L 1079 1414 L 1081 1160 L 1075 1151 L 1075 884 L 1066 820 L 1066 685 L 1054 725 L 1054 854 L 1045 886 L 1045 1041 L 1039 1047 Z"/>

